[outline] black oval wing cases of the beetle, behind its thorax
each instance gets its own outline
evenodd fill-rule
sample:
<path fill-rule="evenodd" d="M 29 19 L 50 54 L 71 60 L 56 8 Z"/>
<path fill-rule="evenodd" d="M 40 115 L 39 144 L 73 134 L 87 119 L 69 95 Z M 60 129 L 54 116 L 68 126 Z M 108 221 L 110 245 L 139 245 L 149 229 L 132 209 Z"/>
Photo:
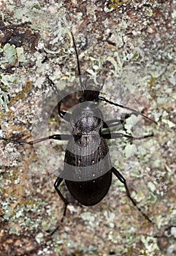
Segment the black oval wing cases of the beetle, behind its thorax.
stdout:
<path fill-rule="evenodd" d="M 112 181 L 109 150 L 99 135 L 69 140 L 64 160 L 64 179 L 72 196 L 84 206 L 99 203 Z"/>

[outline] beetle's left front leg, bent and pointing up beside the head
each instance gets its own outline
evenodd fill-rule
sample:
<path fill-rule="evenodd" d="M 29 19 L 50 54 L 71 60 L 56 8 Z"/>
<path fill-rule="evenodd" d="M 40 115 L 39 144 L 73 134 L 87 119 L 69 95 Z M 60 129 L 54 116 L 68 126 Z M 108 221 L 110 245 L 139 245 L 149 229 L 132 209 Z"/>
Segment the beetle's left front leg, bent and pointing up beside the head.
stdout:
<path fill-rule="evenodd" d="M 46 78 L 58 99 L 58 116 L 60 116 L 61 118 L 64 118 L 65 121 L 70 122 L 71 114 L 61 110 L 62 99 L 58 93 L 58 89 L 57 89 L 56 85 L 53 83 L 53 81 L 49 78 L 48 75 L 46 75 Z"/>

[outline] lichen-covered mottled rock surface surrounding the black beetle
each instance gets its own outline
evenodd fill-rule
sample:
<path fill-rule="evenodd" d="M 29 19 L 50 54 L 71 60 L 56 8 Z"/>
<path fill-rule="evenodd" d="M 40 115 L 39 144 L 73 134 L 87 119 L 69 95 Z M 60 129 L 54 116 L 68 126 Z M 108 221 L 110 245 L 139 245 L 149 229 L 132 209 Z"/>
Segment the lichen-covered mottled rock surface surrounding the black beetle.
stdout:
<path fill-rule="evenodd" d="M 41 118 L 37 110 L 50 93 L 46 74 L 61 93 L 74 88 L 77 64 L 72 30 L 76 42 L 84 41 L 78 49 L 82 73 L 93 77 L 105 73 L 102 95 L 117 101 L 118 85 L 123 85 L 129 92 L 120 103 L 135 105 L 158 122 L 150 124 L 142 118 L 139 130 L 145 135 L 153 132 L 154 137 L 136 146 L 135 160 L 129 142 L 110 143 L 115 167 L 156 224 L 145 222 L 129 203 L 122 184 L 113 179 L 99 205 L 69 208 L 64 223 L 48 237 L 46 230 L 60 223 L 64 208 L 53 189 L 57 171 L 45 170 L 30 146 L 0 141 L 0 250 L 4 254 L 8 245 L 15 255 L 26 255 L 27 250 L 31 255 L 175 255 L 175 1 L 115 2 L 120 4 L 114 8 L 107 6 L 109 1 L 23 1 L 18 6 L 16 1 L 1 2 L 5 26 L 1 42 L 10 29 L 29 34 L 28 42 L 24 38 L 20 46 L 7 40 L 0 48 L 1 135 L 31 140 L 32 124 Z M 105 105 L 104 115 L 119 116 L 121 110 L 111 107 Z M 129 129 L 130 120 L 126 125 Z M 53 114 L 50 131 L 58 133 L 60 127 Z M 65 146 L 54 146 L 61 170 Z M 125 164 L 123 158 L 119 161 L 117 148 L 129 157 Z M 47 156 L 47 147 L 40 149 Z"/>

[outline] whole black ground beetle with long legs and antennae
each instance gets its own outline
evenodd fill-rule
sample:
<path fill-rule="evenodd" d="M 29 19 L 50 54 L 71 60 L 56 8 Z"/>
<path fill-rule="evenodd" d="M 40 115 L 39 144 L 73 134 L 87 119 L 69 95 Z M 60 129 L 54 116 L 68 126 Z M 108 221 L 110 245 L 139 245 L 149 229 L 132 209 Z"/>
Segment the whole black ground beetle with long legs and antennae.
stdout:
<path fill-rule="evenodd" d="M 9 140 L 2 137 L 0 137 L 0 139 L 5 140 L 8 143 L 18 143 L 20 145 L 33 145 L 41 141 L 51 139 L 68 140 L 64 159 L 64 172 L 61 173 L 54 184 L 56 192 L 58 192 L 58 195 L 61 197 L 65 204 L 64 214 L 61 221 L 63 221 L 64 216 L 66 215 L 66 206 L 69 203 L 58 189 L 63 180 L 65 180 L 66 187 L 69 189 L 69 192 L 78 202 L 84 206 L 94 206 L 96 203 L 99 203 L 105 197 L 105 195 L 107 195 L 112 181 L 112 173 L 114 173 L 119 181 L 123 183 L 126 189 L 126 194 L 134 206 L 140 211 L 145 219 L 148 219 L 149 222 L 153 223 L 149 217 L 137 206 L 137 203 L 134 201 L 134 199 L 131 198 L 125 178 L 123 178 L 120 172 L 111 165 L 109 149 L 106 143 L 106 140 L 108 139 L 125 137 L 131 140 L 142 140 L 153 135 L 133 137 L 123 133 L 104 133 L 104 129 L 118 126 L 124 120 L 113 119 L 104 121 L 102 111 L 99 109 L 99 101 L 104 101 L 110 105 L 115 105 L 120 108 L 131 110 L 133 114 L 143 116 L 144 118 L 148 117 L 144 116 L 142 113 L 139 113 L 137 110 L 120 105 L 99 96 L 99 92 L 103 87 L 103 83 L 102 86 L 95 88 L 93 85 L 90 86 L 90 83 L 88 85 L 88 78 L 83 81 L 73 34 L 72 40 L 77 58 L 77 69 L 82 91 L 80 105 L 78 105 L 77 108 L 72 111 L 72 114 L 61 110 L 62 100 L 58 94 L 58 89 L 56 88 L 53 81 L 50 80 L 50 78 L 47 76 L 47 80 L 58 98 L 58 115 L 61 118 L 64 118 L 66 121 L 69 121 L 72 126 L 72 135 L 51 135 L 47 138 L 40 138 L 38 140 L 32 140 L 28 142 Z M 156 121 L 153 121 L 150 118 L 148 118 L 148 120 L 156 124 Z"/>

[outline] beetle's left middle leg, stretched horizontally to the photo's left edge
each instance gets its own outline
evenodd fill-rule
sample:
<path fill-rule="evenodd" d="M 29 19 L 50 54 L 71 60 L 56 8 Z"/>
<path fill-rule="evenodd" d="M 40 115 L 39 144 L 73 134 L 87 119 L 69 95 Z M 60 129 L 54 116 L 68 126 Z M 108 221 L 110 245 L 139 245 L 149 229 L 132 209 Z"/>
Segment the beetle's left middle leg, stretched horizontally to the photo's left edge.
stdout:
<path fill-rule="evenodd" d="M 45 138 L 40 138 L 37 140 L 31 140 L 31 141 L 18 141 L 18 140 L 9 140 L 7 138 L 3 138 L 0 137 L 0 140 L 5 140 L 8 143 L 14 143 L 14 144 L 19 144 L 19 145 L 24 145 L 24 144 L 28 144 L 28 145 L 33 145 L 33 144 L 37 144 L 41 141 L 45 141 L 45 140 L 69 140 L 70 138 L 72 138 L 72 135 L 51 135 Z"/>

